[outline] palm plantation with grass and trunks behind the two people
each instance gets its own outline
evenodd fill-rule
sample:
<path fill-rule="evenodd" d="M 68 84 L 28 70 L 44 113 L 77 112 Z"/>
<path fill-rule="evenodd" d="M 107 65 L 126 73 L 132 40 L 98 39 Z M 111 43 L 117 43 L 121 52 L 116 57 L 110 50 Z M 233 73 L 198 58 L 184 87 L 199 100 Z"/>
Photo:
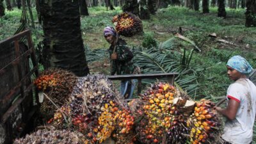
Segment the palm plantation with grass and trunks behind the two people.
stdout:
<path fill-rule="evenodd" d="M 226 74 L 228 58 L 239 54 L 256 67 L 255 3 L 0 0 L 0 40 L 29 28 L 40 70 L 61 67 L 77 76 L 89 70 L 109 74 L 109 44 L 102 29 L 113 26 L 113 16 L 129 11 L 142 19 L 143 34 L 122 38 L 142 72 L 179 72 L 175 84 L 192 99 L 217 102 L 232 83 Z M 143 81 L 144 88 L 151 82 Z"/>

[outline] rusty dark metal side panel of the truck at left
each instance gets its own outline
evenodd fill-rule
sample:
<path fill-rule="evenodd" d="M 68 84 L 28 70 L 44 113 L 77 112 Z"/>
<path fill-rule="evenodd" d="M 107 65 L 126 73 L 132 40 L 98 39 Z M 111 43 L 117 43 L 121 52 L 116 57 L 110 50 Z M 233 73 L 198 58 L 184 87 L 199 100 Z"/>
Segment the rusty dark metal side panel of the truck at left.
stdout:
<path fill-rule="evenodd" d="M 29 60 L 33 65 L 29 66 Z M 0 143 L 6 144 L 27 131 L 36 111 L 33 95 L 38 95 L 31 75 L 38 76 L 38 66 L 31 31 L 0 41 L 0 61 Z"/>

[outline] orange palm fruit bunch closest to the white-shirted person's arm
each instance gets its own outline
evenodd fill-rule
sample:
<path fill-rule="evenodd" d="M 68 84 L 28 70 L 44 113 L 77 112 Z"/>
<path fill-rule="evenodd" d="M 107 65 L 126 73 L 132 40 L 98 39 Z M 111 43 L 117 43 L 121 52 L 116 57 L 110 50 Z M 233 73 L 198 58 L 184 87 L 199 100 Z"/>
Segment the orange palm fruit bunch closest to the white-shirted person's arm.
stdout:
<path fill-rule="evenodd" d="M 210 100 L 202 99 L 196 102 L 194 113 L 189 117 L 187 125 L 191 127 L 190 142 L 211 143 L 218 135 L 220 120 L 218 119 L 215 104 Z"/>

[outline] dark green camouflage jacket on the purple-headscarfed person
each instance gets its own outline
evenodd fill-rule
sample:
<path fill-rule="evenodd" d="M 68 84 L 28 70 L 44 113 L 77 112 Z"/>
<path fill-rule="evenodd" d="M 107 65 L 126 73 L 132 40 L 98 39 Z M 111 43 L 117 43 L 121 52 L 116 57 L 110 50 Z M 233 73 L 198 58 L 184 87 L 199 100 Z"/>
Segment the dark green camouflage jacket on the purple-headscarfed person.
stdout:
<path fill-rule="evenodd" d="M 113 51 L 114 45 L 111 45 L 109 47 L 109 58 L 111 58 Z M 133 54 L 124 40 L 118 40 L 115 52 L 117 54 L 117 59 L 110 60 L 112 65 L 111 75 L 132 74 L 134 72 L 134 65 L 132 63 Z"/>

